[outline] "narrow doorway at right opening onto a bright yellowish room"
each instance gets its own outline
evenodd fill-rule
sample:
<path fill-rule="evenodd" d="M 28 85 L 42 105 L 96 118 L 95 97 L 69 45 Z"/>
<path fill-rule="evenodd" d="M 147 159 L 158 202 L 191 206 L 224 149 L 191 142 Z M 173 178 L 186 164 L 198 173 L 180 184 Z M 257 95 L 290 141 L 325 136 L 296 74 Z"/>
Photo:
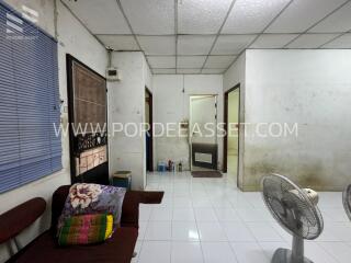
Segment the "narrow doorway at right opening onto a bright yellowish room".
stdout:
<path fill-rule="evenodd" d="M 240 137 L 240 84 L 225 93 L 224 101 L 224 153 L 223 171 L 238 179 Z"/>

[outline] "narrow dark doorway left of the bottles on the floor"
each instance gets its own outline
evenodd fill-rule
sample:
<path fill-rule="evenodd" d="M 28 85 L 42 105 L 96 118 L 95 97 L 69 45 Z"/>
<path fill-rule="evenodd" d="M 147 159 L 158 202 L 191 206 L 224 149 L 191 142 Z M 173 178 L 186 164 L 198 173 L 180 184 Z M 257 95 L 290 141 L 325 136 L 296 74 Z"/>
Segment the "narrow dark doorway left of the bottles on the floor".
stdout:
<path fill-rule="evenodd" d="M 154 171 L 154 137 L 152 137 L 152 93 L 145 88 L 145 123 L 148 124 L 146 135 L 146 171 Z"/>

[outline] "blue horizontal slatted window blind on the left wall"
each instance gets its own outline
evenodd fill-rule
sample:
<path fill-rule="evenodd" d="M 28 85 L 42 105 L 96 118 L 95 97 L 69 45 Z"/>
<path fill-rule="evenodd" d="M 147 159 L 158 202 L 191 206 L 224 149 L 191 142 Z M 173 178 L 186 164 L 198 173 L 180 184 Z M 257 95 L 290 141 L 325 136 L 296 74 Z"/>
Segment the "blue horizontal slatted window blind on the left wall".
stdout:
<path fill-rule="evenodd" d="M 0 1 L 0 193 L 61 169 L 57 43 Z"/>

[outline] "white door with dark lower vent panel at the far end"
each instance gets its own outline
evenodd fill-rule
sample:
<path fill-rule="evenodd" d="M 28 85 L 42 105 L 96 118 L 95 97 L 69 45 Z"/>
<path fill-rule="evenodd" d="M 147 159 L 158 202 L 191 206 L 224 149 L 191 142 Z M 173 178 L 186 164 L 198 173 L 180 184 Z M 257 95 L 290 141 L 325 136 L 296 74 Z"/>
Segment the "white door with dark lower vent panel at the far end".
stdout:
<path fill-rule="evenodd" d="M 190 96 L 191 171 L 217 170 L 217 95 Z"/>

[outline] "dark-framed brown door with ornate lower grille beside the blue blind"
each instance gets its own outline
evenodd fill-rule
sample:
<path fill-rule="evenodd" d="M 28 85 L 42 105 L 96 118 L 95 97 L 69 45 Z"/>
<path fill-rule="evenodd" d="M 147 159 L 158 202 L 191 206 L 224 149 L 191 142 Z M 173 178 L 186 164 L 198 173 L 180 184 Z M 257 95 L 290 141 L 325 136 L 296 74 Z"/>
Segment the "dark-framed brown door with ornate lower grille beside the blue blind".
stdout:
<path fill-rule="evenodd" d="M 71 181 L 109 184 L 106 80 L 67 55 L 67 88 Z"/>

